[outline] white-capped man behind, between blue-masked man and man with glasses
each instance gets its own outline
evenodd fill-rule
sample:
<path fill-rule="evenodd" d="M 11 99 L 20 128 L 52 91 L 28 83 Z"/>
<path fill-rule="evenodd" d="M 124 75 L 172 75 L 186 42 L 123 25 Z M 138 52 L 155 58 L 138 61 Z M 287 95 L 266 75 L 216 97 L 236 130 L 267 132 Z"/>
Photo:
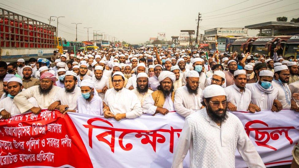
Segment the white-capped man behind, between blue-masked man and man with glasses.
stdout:
<path fill-rule="evenodd" d="M 94 76 L 93 76 L 93 82 L 94 82 L 94 89 L 97 90 L 98 95 L 101 99 L 104 99 L 104 95 L 106 91 L 109 89 L 109 78 L 106 76 L 103 76 L 103 67 L 100 65 L 97 65 L 94 68 Z"/>

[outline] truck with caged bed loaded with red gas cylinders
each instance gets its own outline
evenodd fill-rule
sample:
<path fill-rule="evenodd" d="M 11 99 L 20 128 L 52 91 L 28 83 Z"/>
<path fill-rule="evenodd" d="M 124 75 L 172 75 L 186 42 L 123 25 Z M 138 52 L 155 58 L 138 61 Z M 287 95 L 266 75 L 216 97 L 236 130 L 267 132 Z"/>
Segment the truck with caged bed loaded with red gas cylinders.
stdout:
<path fill-rule="evenodd" d="M 0 8 L 0 60 L 16 62 L 19 58 L 50 58 L 62 39 L 56 27 Z"/>

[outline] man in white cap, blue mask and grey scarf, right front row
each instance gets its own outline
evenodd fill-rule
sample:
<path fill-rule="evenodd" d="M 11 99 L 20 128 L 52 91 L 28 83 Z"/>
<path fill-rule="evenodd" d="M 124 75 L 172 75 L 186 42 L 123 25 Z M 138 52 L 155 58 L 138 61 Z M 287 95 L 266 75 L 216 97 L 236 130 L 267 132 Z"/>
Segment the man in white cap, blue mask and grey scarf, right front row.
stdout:
<path fill-rule="evenodd" d="M 278 89 L 272 86 L 274 73 L 269 70 L 259 72 L 259 81 L 246 84 L 246 89 L 251 93 L 251 102 L 259 106 L 260 110 L 282 110 L 281 103 L 277 100 Z M 273 106 L 274 105 L 274 106 Z"/>

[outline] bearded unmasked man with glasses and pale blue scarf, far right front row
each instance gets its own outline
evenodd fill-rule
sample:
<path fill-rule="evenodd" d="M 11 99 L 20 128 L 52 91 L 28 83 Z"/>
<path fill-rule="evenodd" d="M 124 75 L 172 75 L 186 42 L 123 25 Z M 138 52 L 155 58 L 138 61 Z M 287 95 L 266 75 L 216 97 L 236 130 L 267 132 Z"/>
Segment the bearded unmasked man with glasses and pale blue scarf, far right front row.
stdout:
<path fill-rule="evenodd" d="M 290 79 L 290 71 L 286 65 L 274 67 L 274 79 L 272 85 L 278 89 L 277 100 L 282 104 L 283 109 L 297 110 L 295 100 L 291 97 L 291 91 L 287 83 Z"/>

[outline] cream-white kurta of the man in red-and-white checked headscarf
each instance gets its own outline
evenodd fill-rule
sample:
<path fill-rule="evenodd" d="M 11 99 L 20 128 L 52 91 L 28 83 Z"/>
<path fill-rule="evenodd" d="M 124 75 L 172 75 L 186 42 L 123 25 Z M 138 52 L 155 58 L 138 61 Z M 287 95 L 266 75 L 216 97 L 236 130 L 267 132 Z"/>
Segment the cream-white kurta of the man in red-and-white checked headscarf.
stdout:
<path fill-rule="evenodd" d="M 61 89 L 57 86 L 53 86 L 51 91 L 44 95 L 40 93 L 39 87 L 40 85 L 27 88 L 25 91 L 21 91 L 13 98 L 21 113 L 25 113 L 34 106 L 27 100 L 31 97 L 34 97 L 36 99 L 37 104 L 41 109 L 47 109 L 51 104 L 55 94 Z"/>

